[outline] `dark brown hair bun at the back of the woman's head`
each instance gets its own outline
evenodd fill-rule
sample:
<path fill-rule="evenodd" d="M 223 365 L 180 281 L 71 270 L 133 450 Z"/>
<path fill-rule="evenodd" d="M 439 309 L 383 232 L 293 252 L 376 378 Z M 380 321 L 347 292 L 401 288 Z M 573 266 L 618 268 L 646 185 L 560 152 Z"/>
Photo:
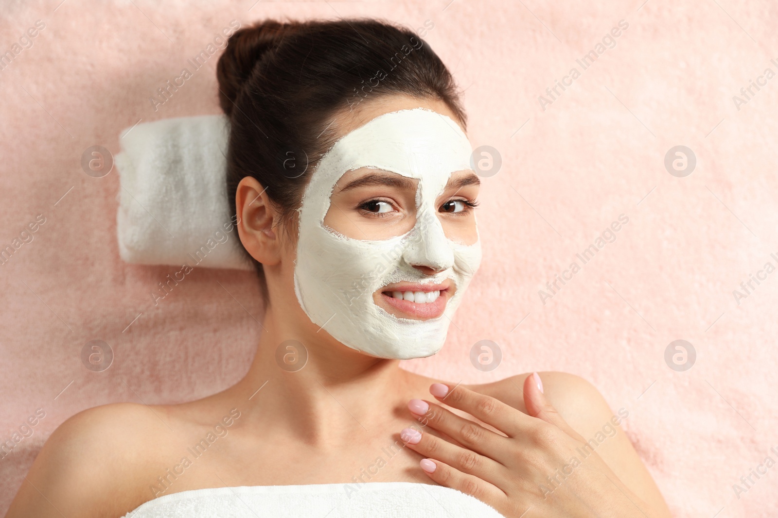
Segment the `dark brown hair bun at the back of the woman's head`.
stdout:
<path fill-rule="evenodd" d="M 216 65 L 219 80 L 219 104 L 227 116 L 233 111 L 233 103 L 240 94 L 254 65 L 261 61 L 268 50 L 275 48 L 290 33 L 300 29 L 302 23 L 282 23 L 263 20 L 253 26 L 237 30 L 227 41 L 224 53 Z"/>

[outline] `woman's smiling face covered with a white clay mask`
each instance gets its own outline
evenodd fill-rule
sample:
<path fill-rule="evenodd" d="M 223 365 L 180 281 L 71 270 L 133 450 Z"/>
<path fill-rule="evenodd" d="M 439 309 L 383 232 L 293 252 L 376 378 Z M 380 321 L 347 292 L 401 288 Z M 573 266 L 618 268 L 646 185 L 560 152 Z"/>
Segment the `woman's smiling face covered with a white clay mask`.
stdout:
<path fill-rule="evenodd" d="M 241 239 L 265 265 L 272 305 L 292 315 L 287 328 L 302 309 L 316 339 L 324 330 L 373 356 L 430 356 L 481 259 L 471 144 L 445 103 L 404 96 L 330 127 L 335 146 L 310 175 L 296 232 L 274 235 L 271 262 Z"/>

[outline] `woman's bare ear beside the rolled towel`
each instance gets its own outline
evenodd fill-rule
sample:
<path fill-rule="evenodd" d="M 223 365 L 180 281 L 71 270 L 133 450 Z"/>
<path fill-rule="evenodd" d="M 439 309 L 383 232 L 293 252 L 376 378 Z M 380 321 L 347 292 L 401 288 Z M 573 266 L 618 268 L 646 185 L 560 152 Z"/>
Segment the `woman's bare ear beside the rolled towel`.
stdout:
<path fill-rule="evenodd" d="M 274 266 L 281 261 L 281 246 L 273 228 L 279 224 L 266 188 L 251 176 L 238 183 L 235 192 L 235 212 L 238 236 L 251 257 L 263 265 Z"/>

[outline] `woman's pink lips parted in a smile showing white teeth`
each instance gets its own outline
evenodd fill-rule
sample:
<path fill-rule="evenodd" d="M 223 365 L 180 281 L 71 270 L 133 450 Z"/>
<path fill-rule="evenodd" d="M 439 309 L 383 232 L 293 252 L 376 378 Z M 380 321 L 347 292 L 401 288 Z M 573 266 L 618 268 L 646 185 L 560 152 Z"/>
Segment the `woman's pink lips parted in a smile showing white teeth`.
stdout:
<path fill-rule="evenodd" d="M 399 283 L 384 287 L 380 297 L 388 308 L 394 310 L 391 311 L 394 316 L 427 320 L 443 315 L 450 290 L 443 284 Z"/>

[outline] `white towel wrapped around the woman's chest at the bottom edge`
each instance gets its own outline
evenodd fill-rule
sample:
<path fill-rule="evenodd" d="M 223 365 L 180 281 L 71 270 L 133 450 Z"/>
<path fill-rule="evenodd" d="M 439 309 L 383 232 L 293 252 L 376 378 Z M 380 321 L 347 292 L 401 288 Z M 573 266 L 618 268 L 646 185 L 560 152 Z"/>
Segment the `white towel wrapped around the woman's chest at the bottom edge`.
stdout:
<path fill-rule="evenodd" d="M 505 518 L 456 489 L 416 482 L 194 489 L 145 502 L 122 518 Z M 350 496 L 350 498 L 349 498 Z"/>

